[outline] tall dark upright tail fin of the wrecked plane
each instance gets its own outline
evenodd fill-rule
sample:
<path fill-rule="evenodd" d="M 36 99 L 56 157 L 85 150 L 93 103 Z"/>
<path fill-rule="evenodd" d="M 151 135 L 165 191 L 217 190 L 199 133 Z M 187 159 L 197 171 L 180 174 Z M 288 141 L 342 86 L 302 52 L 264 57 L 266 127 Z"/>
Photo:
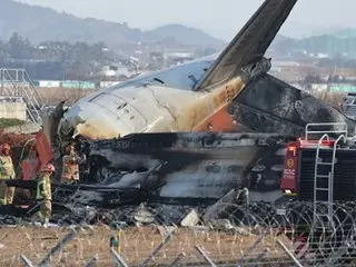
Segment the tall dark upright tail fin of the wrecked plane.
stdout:
<path fill-rule="evenodd" d="M 256 71 L 267 72 L 270 62 L 264 55 L 296 2 L 297 0 L 265 0 L 194 89 L 210 89 L 244 72 L 244 77 L 247 72 L 247 78 Z"/>

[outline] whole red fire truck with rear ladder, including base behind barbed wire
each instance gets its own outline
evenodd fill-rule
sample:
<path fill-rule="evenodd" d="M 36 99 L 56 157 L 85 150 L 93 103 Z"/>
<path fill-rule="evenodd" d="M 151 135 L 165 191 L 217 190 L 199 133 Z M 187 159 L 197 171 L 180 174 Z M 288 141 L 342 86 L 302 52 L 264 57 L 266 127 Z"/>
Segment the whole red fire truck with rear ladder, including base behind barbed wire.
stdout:
<path fill-rule="evenodd" d="M 297 209 L 289 215 L 299 218 L 288 218 L 298 222 L 287 237 L 301 244 L 304 251 L 317 251 L 315 257 L 329 253 L 334 261 L 348 255 L 343 238 L 348 235 L 354 240 L 356 214 L 346 215 L 355 210 L 356 200 L 356 136 L 349 136 L 352 131 L 346 123 L 309 123 L 303 138 L 287 145 L 284 160 L 280 189 L 289 201 L 280 210 L 285 214 L 291 202 Z M 343 208 L 335 208 L 339 204 Z"/>

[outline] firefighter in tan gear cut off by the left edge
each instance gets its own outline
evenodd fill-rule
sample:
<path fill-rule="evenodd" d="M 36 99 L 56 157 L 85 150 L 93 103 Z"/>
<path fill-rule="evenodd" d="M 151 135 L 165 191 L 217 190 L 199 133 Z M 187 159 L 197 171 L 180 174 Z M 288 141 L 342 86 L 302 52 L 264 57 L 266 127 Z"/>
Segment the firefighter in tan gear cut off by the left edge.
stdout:
<path fill-rule="evenodd" d="M 14 187 L 8 187 L 4 180 L 14 179 L 14 169 L 12 159 L 10 156 L 10 146 L 8 144 L 1 145 L 0 155 L 0 204 L 9 205 L 12 204 Z"/>

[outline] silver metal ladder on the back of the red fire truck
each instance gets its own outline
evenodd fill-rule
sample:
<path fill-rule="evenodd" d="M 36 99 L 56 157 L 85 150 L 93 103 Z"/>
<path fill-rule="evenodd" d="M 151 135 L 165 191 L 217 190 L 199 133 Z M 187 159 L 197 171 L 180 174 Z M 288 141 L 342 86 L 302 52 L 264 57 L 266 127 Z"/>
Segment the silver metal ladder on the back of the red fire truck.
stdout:
<path fill-rule="evenodd" d="M 316 157 L 315 157 L 315 172 L 314 172 L 314 202 L 313 202 L 313 225 L 315 227 L 319 227 L 318 222 L 324 224 L 326 227 L 330 227 L 333 224 L 333 205 L 334 205 L 334 171 L 335 171 L 335 164 L 337 164 L 336 151 L 338 148 L 339 141 L 346 142 L 346 136 L 340 135 L 334 142 L 333 146 L 333 157 L 332 161 L 324 161 L 320 158 L 320 151 L 329 151 L 330 148 L 324 148 L 323 141 L 330 140 L 329 136 L 325 134 L 318 141 Z M 319 172 L 320 166 L 329 167 L 329 171 L 327 175 L 322 175 Z M 319 187 L 319 182 L 327 180 L 327 187 Z M 318 199 L 318 192 L 327 192 L 327 199 Z M 320 207 L 325 206 L 327 211 L 320 211 Z"/>

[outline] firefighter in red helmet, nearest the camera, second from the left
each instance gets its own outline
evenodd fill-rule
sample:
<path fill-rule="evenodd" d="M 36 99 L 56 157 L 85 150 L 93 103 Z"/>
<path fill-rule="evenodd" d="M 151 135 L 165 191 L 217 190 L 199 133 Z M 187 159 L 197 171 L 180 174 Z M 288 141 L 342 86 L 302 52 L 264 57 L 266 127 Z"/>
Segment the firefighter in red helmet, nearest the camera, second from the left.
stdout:
<path fill-rule="evenodd" d="M 47 164 L 41 166 L 37 184 L 36 199 L 41 201 L 38 216 L 43 220 L 43 226 L 47 228 L 49 218 L 52 212 L 52 191 L 51 191 L 51 175 L 55 171 L 55 166 Z"/>

